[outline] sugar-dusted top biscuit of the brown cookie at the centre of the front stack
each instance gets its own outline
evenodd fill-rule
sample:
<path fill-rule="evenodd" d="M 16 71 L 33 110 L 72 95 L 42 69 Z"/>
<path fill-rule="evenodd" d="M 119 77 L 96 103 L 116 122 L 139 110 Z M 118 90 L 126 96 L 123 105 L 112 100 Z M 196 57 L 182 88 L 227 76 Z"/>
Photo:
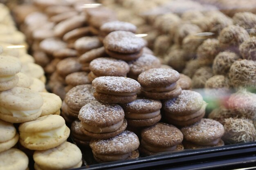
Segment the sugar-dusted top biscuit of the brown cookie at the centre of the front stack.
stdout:
<path fill-rule="evenodd" d="M 116 93 L 132 93 L 140 89 L 140 84 L 127 77 L 104 76 L 97 77 L 92 81 L 92 87 L 99 91 Z"/>

